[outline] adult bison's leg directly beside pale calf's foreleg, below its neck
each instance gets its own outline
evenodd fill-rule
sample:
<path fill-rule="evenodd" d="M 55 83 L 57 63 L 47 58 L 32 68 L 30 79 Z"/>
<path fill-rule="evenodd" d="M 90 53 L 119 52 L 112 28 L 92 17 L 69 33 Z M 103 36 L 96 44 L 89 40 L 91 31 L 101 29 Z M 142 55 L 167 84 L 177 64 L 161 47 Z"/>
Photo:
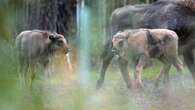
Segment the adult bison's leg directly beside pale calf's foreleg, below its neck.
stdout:
<path fill-rule="evenodd" d="M 119 60 L 119 68 L 120 68 L 120 71 L 122 73 L 122 77 L 127 85 L 127 88 L 130 88 L 131 87 L 131 79 L 130 79 L 128 69 L 127 69 L 128 61 L 126 61 L 122 58 L 119 58 L 118 60 Z"/>

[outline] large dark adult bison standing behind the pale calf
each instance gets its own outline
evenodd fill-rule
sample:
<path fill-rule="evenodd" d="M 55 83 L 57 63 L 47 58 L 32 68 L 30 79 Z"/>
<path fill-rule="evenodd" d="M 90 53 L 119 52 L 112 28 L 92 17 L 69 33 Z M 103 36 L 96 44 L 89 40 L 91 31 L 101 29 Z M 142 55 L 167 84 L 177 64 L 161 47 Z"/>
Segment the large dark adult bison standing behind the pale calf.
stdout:
<path fill-rule="evenodd" d="M 102 54 L 102 65 L 97 88 L 104 82 L 105 72 L 112 60 L 111 36 L 124 29 L 164 28 L 175 31 L 179 36 L 184 61 L 195 80 L 195 1 L 158 0 L 152 4 L 128 5 L 114 10 L 111 16 L 111 35 Z M 131 87 L 127 71 L 127 61 L 119 60 L 119 68 L 127 84 Z"/>

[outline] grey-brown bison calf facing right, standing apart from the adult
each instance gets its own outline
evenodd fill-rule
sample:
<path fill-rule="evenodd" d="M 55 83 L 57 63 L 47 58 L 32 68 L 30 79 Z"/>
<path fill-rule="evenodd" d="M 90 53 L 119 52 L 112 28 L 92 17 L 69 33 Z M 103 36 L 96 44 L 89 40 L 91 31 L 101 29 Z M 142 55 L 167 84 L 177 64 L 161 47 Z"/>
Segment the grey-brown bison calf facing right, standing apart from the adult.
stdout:
<path fill-rule="evenodd" d="M 16 47 L 21 65 L 21 77 L 25 84 L 31 84 L 35 77 L 34 67 L 39 64 L 43 68 L 50 57 L 57 51 L 69 52 L 69 46 L 63 35 L 43 30 L 28 30 L 16 37 Z M 32 71 L 31 71 L 32 70 Z"/>

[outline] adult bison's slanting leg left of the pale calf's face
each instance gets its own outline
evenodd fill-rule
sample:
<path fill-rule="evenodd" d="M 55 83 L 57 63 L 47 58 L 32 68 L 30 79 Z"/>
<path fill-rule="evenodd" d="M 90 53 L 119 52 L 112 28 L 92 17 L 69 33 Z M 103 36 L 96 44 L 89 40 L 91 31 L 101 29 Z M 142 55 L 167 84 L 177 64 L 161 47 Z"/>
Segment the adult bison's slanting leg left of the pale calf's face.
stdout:
<path fill-rule="evenodd" d="M 111 50 L 111 49 L 110 49 Z M 103 53 L 103 62 L 102 62 L 102 65 L 101 65 L 101 70 L 100 70 L 100 77 L 99 79 L 97 80 L 97 85 L 96 85 L 96 88 L 99 89 L 102 87 L 102 84 L 104 82 L 104 78 L 105 78 L 105 74 L 106 74 L 106 70 L 110 64 L 110 61 L 112 60 L 113 58 L 113 54 L 111 51 L 104 51 Z"/>

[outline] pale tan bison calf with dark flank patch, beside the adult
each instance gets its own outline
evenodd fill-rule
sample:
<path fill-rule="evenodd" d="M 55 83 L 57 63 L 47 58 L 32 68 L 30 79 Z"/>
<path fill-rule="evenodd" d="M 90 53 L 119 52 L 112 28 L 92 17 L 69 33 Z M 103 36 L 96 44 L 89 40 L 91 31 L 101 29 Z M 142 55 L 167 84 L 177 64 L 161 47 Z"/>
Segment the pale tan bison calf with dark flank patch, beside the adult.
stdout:
<path fill-rule="evenodd" d="M 112 43 L 120 59 L 131 60 L 135 64 L 134 75 L 137 87 L 142 87 L 142 69 L 152 58 L 156 58 L 164 64 L 156 82 L 162 74 L 165 74 L 169 81 L 168 71 L 172 64 L 181 72 L 182 63 L 178 58 L 178 36 L 171 30 L 125 30 L 115 34 Z"/>

